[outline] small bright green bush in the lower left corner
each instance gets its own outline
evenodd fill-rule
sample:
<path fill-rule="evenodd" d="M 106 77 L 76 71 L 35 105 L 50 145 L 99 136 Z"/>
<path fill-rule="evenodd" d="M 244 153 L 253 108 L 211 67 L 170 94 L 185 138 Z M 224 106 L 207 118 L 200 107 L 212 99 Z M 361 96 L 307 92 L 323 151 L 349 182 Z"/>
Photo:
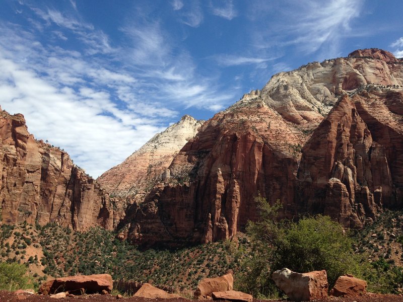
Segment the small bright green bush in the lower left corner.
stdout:
<path fill-rule="evenodd" d="M 0 262 L 0 289 L 16 290 L 33 287 L 27 267 L 18 263 Z"/>

